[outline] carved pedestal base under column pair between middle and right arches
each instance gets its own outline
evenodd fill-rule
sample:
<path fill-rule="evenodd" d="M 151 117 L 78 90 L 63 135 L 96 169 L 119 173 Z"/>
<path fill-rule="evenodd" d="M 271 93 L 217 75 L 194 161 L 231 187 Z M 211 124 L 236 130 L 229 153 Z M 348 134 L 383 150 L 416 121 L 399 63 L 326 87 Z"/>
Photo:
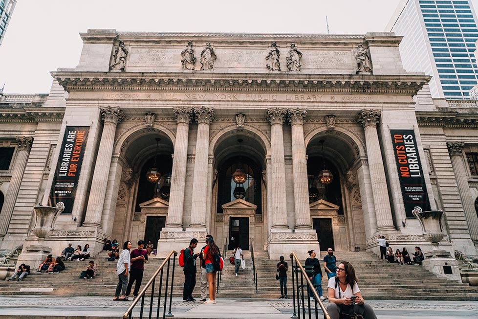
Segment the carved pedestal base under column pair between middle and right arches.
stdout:
<path fill-rule="evenodd" d="M 299 259 L 305 260 L 309 250 L 320 251 L 314 229 L 296 229 L 294 232 L 291 229 L 271 229 L 269 232 L 267 251 L 270 259 L 279 259 L 280 256 L 288 259 L 293 251 Z"/>

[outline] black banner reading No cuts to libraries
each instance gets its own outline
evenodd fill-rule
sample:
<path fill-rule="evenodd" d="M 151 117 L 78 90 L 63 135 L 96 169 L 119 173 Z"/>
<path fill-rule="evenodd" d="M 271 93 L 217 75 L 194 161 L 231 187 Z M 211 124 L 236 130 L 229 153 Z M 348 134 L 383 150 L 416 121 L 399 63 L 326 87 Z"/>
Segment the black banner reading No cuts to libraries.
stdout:
<path fill-rule="evenodd" d="M 423 211 L 430 210 L 427 185 L 418 155 L 415 132 L 413 130 L 390 130 L 390 133 L 405 212 L 407 218 L 415 218 L 412 213 L 415 206 L 420 206 Z"/>

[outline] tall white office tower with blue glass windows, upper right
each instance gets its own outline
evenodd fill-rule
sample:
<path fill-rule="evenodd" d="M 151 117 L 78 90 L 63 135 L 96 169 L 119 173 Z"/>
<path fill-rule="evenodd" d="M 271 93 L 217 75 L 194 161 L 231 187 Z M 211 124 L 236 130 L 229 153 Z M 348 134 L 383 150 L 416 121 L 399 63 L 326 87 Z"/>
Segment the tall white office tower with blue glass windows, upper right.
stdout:
<path fill-rule="evenodd" d="M 403 36 L 405 69 L 433 76 L 433 97 L 470 98 L 478 76 L 477 16 L 470 0 L 402 0 L 386 30 Z"/>

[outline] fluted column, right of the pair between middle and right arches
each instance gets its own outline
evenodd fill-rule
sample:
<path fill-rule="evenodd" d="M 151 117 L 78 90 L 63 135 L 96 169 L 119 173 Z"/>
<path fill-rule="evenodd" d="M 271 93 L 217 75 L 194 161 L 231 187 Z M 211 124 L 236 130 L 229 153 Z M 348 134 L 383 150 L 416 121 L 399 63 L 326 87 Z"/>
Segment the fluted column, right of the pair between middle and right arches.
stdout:
<path fill-rule="evenodd" d="M 292 171 L 294 176 L 296 229 L 312 229 L 304 143 L 304 118 L 306 114 L 307 110 L 304 109 L 289 110 L 292 130 Z"/>

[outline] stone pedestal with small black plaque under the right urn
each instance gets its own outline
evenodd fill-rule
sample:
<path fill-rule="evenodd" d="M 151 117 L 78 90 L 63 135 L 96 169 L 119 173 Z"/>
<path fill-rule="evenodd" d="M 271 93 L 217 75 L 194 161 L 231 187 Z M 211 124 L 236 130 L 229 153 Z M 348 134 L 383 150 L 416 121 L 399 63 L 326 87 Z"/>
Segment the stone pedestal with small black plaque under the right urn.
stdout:
<path fill-rule="evenodd" d="M 428 269 L 431 273 L 438 277 L 447 278 L 461 283 L 460 270 L 458 269 L 458 262 L 452 257 L 450 252 L 442 250 L 433 250 L 426 252 L 425 259 L 422 261 L 423 267 Z M 445 271 L 451 273 L 445 273 Z"/>

